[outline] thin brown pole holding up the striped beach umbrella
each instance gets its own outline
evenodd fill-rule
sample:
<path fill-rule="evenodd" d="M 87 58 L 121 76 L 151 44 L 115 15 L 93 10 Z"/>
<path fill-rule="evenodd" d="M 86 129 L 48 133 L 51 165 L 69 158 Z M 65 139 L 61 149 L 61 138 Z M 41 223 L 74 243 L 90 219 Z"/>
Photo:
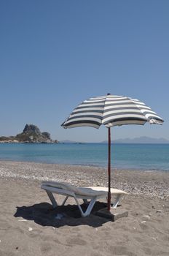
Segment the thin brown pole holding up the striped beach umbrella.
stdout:
<path fill-rule="evenodd" d="M 109 191 L 108 191 L 108 200 L 107 200 L 107 209 L 110 211 L 111 208 L 111 129 L 108 128 L 108 177 L 109 177 Z"/>

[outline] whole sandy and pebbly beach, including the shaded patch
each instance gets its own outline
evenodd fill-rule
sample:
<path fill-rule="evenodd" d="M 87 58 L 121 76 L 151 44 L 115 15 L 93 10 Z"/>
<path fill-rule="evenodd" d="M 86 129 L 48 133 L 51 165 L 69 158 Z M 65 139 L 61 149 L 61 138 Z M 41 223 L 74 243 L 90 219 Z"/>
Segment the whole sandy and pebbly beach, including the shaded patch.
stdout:
<path fill-rule="evenodd" d="M 128 193 L 128 217 L 80 217 L 73 199 L 57 219 L 41 181 L 107 187 L 102 167 L 0 162 L 0 255 L 169 255 L 169 173 L 112 170 L 111 187 Z M 59 197 L 59 201 L 61 196 Z"/>

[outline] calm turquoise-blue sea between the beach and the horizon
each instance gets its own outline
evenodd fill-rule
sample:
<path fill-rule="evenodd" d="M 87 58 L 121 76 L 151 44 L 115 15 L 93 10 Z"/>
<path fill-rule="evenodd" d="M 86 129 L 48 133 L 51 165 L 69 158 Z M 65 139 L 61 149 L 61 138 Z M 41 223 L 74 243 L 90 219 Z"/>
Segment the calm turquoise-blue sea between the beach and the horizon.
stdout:
<path fill-rule="evenodd" d="M 0 143 L 0 160 L 106 167 L 103 143 Z M 169 171 L 169 144 L 111 144 L 111 167 Z"/>

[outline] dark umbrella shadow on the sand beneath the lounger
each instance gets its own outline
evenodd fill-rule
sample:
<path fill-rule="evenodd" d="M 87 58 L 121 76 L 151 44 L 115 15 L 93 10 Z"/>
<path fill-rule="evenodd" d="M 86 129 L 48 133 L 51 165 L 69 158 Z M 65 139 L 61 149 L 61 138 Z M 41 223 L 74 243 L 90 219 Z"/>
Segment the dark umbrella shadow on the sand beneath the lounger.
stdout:
<path fill-rule="evenodd" d="M 81 206 L 85 209 L 84 204 Z M 38 203 L 33 206 L 17 206 L 14 217 L 22 217 L 26 220 L 36 222 L 41 226 L 63 227 L 89 225 L 100 227 L 109 219 L 98 217 L 95 213 L 101 208 L 105 208 L 106 203 L 96 202 L 92 213 L 87 217 L 82 217 L 76 205 L 58 206 L 53 209 L 50 203 Z"/>

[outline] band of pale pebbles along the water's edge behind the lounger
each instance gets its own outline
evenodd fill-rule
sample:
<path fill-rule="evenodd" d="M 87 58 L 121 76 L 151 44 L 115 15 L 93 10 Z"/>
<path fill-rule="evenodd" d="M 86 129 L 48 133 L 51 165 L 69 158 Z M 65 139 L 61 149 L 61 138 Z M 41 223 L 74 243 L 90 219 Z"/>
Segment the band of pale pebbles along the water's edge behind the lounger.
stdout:
<path fill-rule="evenodd" d="M 1 160 L 0 177 L 67 182 L 78 187 L 107 187 L 108 182 L 106 167 Z M 111 169 L 111 187 L 122 189 L 133 195 L 169 200 L 169 173 Z"/>

